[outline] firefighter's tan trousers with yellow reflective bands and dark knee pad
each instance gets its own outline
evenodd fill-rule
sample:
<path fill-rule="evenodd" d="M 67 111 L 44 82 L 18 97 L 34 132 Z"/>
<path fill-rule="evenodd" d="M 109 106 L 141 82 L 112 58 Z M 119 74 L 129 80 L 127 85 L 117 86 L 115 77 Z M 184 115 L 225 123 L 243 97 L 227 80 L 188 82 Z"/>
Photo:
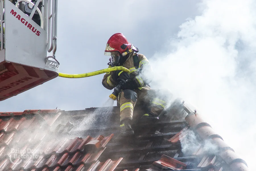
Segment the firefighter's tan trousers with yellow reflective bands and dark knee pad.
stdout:
<path fill-rule="evenodd" d="M 166 104 L 172 98 L 172 93 L 167 89 L 151 89 L 150 87 L 141 87 L 140 89 L 121 91 L 117 98 L 117 105 L 120 106 L 120 122 L 123 119 L 133 118 L 133 109 L 135 104 L 145 105 L 147 113 L 154 116 L 159 115 Z"/>

